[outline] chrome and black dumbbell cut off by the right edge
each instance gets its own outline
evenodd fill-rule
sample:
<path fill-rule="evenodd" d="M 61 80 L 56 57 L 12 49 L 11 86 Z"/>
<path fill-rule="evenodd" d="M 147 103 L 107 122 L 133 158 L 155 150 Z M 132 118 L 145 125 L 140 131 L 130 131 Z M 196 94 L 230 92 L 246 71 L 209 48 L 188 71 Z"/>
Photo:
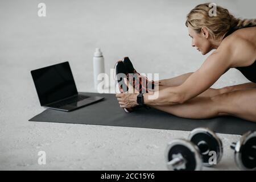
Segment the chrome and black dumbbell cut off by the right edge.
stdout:
<path fill-rule="evenodd" d="M 234 150 L 237 166 L 246 171 L 256 170 L 256 131 L 243 134 L 237 143 L 230 146 Z"/>

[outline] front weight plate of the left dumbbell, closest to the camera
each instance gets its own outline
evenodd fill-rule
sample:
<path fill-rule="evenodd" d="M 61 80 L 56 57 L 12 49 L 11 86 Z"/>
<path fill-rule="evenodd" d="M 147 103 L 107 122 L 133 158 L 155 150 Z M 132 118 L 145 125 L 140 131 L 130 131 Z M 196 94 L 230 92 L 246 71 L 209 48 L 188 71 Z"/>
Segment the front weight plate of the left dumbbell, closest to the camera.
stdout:
<path fill-rule="evenodd" d="M 175 156 L 182 156 L 185 160 L 184 168 L 177 169 L 168 165 Z M 179 171 L 199 171 L 203 164 L 199 148 L 192 142 L 184 139 L 174 139 L 167 145 L 166 149 L 167 168 Z"/>

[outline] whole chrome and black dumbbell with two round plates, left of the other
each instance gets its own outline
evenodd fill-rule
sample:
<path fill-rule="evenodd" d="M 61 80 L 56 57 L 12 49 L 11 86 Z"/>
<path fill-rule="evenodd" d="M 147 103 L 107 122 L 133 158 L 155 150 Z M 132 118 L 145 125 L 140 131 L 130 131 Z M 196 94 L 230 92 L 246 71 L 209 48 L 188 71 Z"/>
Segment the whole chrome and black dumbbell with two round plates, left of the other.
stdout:
<path fill-rule="evenodd" d="M 206 128 L 191 131 L 188 140 L 175 139 L 167 145 L 167 168 L 175 171 L 201 170 L 203 166 L 213 166 L 222 158 L 222 142 L 217 135 Z M 216 163 L 209 163 L 215 155 Z"/>

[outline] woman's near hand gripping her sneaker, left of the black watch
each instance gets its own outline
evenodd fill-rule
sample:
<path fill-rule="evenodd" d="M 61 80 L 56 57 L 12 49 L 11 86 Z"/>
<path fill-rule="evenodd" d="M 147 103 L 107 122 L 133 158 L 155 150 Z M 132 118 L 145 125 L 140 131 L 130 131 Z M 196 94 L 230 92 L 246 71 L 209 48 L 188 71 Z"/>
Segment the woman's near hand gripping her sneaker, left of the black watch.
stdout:
<path fill-rule="evenodd" d="M 115 95 L 120 107 L 122 108 L 131 108 L 137 106 L 137 96 L 138 93 L 118 93 Z"/>

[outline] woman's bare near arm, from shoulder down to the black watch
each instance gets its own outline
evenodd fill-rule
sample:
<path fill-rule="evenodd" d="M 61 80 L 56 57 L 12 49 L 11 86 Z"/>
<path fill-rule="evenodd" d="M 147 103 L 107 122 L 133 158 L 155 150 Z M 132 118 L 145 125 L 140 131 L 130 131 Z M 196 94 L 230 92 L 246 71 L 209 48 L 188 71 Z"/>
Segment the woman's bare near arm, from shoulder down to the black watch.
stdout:
<path fill-rule="evenodd" d="M 172 86 L 159 92 L 144 94 L 146 105 L 174 105 L 196 97 L 210 88 L 230 68 L 232 56 L 230 47 L 216 50 L 210 55 L 203 65 L 179 86 Z M 152 95 L 158 96 L 151 99 Z"/>

